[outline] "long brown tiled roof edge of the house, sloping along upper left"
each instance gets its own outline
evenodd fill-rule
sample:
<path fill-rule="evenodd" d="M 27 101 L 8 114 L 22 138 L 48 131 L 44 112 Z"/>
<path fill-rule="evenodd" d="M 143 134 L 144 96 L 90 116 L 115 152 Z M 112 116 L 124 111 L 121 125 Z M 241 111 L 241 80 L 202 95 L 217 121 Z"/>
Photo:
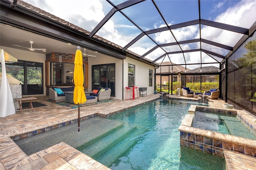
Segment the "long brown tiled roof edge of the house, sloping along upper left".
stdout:
<path fill-rule="evenodd" d="M 56 22 L 59 22 L 59 23 L 61 23 L 61 24 L 64 24 L 64 25 L 66 25 L 66 26 L 68 26 L 68 27 L 70 27 L 70 28 L 73 28 L 73 29 L 75 29 L 75 30 L 77 30 L 77 31 L 79 31 L 79 32 L 82 32 L 82 33 L 84 33 L 84 34 L 86 34 L 86 35 L 89 35 L 89 34 L 90 34 L 89 31 L 84 30 L 83 28 L 80 28 L 80 27 L 78 27 L 78 26 L 76 26 L 76 25 L 74 25 L 74 24 L 72 24 L 72 23 L 70 23 L 70 22 L 67 22 L 66 20 L 63 20 L 62 18 L 59 18 L 59 17 L 57 17 L 57 16 L 54 16 L 54 15 L 50 14 L 49 12 L 46 12 L 46 11 L 44 11 L 44 10 L 41 10 L 40 8 L 38 8 L 38 7 L 36 7 L 36 6 L 32 6 L 31 4 L 28 4 L 27 2 L 24 2 L 24 1 L 22 1 L 22 0 L 18 0 L 17 4 L 20 5 L 20 6 L 22 6 L 22 7 L 24 7 L 24 8 L 26 8 L 26 9 L 28 9 L 28 10 L 34 11 L 34 12 L 36 12 L 36 13 L 42 15 L 42 16 L 45 16 L 45 17 L 50 18 L 50 19 L 52 19 L 52 20 L 54 20 L 54 21 L 56 21 Z M 102 37 L 100 37 L 100 36 L 94 35 L 93 37 L 96 38 L 96 39 L 98 39 L 98 40 L 100 40 L 100 41 L 102 41 L 102 42 L 104 42 L 104 43 L 108 43 L 109 45 L 112 45 L 112 46 L 114 46 L 114 47 L 116 47 L 116 48 L 119 48 L 119 49 L 122 49 L 122 48 L 123 48 L 123 47 L 121 47 L 120 45 L 117 45 L 116 43 L 110 42 L 110 41 L 108 41 L 108 40 L 106 40 L 106 39 L 104 39 L 104 38 L 102 38 Z M 137 57 L 140 57 L 140 55 L 138 55 L 137 53 L 134 53 L 134 52 L 132 52 L 132 51 L 130 51 L 130 50 L 128 50 L 128 49 L 126 49 L 125 51 L 128 52 L 128 53 L 130 53 L 130 54 L 132 54 L 132 55 L 135 55 L 135 56 L 137 56 Z M 147 58 L 143 58 L 143 60 L 152 62 L 152 60 L 147 59 Z M 158 65 L 157 63 L 154 63 L 154 64 L 155 64 L 155 65 Z"/>

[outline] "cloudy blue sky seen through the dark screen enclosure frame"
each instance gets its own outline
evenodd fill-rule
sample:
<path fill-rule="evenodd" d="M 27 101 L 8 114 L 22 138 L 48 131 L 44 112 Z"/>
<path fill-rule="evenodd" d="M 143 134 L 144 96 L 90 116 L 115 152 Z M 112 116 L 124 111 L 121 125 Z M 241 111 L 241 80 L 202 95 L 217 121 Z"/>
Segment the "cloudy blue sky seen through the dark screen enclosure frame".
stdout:
<path fill-rule="evenodd" d="M 55 16 L 58 16 L 76 26 L 79 26 L 91 32 L 97 24 L 110 12 L 113 8 L 105 0 L 24 0 L 33 6 L 41 8 Z M 115 5 L 118 5 L 124 0 L 111 0 Z M 158 14 L 154 8 L 151 0 L 146 0 L 129 8 L 122 10 L 122 12 L 132 19 L 142 30 L 138 29 L 128 19 L 126 19 L 120 12 L 116 12 L 108 22 L 96 33 L 98 36 L 114 42 L 122 47 L 125 47 L 142 31 L 152 30 L 155 28 L 165 27 L 197 20 L 198 1 L 197 0 L 155 0 L 156 5 L 161 10 L 165 21 Z M 256 0 L 201 0 L 200 1 L 201 18 L 211 20 L 224 24 L 230 24 L 243 28 L 250 28 L 256 21 Z M 174 34 L 175 38 L 172 36 Z M 200 38 L 199 25 L 193 25 L 183 28 L 178 28 L 170 31 L 159 32 L 152 35 L 143 36 L 136 43 L 131 45 L 128 49 L 139 55 L 143 55 L 148 50 L 156 46 L 152 40 L 157 43 L 170 43 L 183 40 L 191 40 Z M 234 46 L 236 42 L 242 37 L 241 34 L 220 30 L 210 26 L 201 25 L 201 38 L 211 40 L 224 45 Z M 151 40 L 152 39 L 152 40 Z M 200 43 L 191 43 L 181 45 L 182 50 L 200 48 Z M 202 48 L 206 50 L 213 50 L 220 55 L 226 55 L 227 50 L 219 47 L 202 43 Z M 178 45 L 164 47 L 167 52 L 180 51 Z M 152 61 L 163 55 L 165 51 L 158 48 L 152 53 L 148 54 L 146 58 Z M 200 52 L 182 53 L 169 55 L 171 61 L 176 64 L 186 63 L 200 63 Z M 164 61 L 170 61 L 166 56 Z M 212 58 L 213 57 L 213 58 Z M 202 55 L 202 62 L 216 62 L 221 61 L 220 58 L 212 56 L 209 57 L 205 53 Z M 157 62 L 161 62 L 160 59 Z M 205 65 L 206 66 L 206 65 Z M 215 65 L 218 67 L 218 64 Z M 191 69 L 198 67 L 198 65 L 188 66 Z"/>

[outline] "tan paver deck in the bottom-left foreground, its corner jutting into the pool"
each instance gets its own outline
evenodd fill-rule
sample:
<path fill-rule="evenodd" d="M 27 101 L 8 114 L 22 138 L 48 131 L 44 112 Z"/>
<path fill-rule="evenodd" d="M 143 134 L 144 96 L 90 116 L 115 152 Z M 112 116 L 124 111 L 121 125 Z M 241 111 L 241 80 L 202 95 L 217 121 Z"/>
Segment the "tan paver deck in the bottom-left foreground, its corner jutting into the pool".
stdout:
<path fill-rule="evenodd" d="M 0 169 L 16 170 L 23 168 L 34 170 L 40 168 L 70 168 L 94 170 L 96 168 L 100 170 L 110 170 L 110 168 L 100 164 L 64 142 L 55 144 L 30 156 L 27 156 L 8 136 L 2 135 L 0 137 L 0 143 L 1 145 L 4 144 L 5 147 L 5 151 L 1 156 Z M 1 149 L 2 147 L 3 146 L 1 146 Z M 10 160 L 9 157 L 12 157 L 12 159 Z M 6 162 L 8 160 L 10 161 Z M 7 166 L 4 166 L 2 162 L 5 162 Z"/>

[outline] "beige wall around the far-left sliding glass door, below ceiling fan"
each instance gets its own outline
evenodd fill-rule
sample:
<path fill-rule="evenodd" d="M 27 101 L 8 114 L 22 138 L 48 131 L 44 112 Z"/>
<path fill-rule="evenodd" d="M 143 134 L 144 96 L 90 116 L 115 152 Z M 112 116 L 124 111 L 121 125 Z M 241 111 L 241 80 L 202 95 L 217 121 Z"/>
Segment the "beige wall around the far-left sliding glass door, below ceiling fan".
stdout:
<path fill-rule="evenodd" d="M 24 60 L 24 61 L 34 61 L 38 63 L 43 63 L 44 75 L 43 75 L 43 88 L 44 88 L 44 95 L 46 95 L 46 85 L 45 85 L 45 59 L 46 55 L 31 51 L 24 51 L 20 49 L 14 49 L 9 47 L 0 46 L 1 49 L 4 49 L 5 52 L 9 53 L 16 59 Z"/>

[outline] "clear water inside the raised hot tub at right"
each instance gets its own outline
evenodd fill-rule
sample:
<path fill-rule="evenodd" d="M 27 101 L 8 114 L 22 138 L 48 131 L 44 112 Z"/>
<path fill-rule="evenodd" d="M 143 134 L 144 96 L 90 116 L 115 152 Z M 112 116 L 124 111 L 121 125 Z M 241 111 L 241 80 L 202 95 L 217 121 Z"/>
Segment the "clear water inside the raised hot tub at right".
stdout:
<path fill-rule="evenodd" d="M 196 111 L 193 127 L 256 140 L 256 136 L 236 115 Z"/>

